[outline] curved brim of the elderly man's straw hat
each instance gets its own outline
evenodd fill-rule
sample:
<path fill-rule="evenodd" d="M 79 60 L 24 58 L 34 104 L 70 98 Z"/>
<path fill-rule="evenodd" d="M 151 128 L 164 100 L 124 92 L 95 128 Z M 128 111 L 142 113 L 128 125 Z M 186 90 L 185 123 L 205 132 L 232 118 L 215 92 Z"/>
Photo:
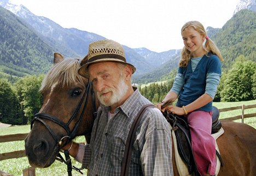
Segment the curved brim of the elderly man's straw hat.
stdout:
<path fill-rule="evenodd" d="M 86 56 L 85 56 L 85 58 L 86 58 Z M 132 74 L 136 71 L 136 67 L 135 66 L 133 66 L 130 63 L 121 61 L 121 60 L 119 60 L 117 58 L 102 58 L 102 59 L 99 59 L 99 60 L 96 60 L 96 61 L 87 62 L 85 64 L 83 64 L 83 60 L 82 60 L 80 65 L 83 65 L 83 66 L 78 69 L 78 74 L 80 74 L 82 77 L 90 78 L 90 74 L 89 74 L 89 71 L 88 71 L 89 65 L 93 64 L 93 63 L 99 63 L 99 62 L 118 62 L 118 63 L 123 63 L 123 64 L 127 64 L 127 65 L 131 66 Z"/>

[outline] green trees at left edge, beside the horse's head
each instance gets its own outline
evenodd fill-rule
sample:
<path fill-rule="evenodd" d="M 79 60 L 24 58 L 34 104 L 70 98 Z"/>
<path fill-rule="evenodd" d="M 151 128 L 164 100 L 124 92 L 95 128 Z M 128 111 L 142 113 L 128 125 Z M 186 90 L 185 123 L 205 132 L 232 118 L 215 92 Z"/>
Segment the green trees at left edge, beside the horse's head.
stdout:
<path fill-rule="evenodd" d="M 0 79 L 0 122 L 25 125 L 43 104 L 39 88 L 44 75 L 28 75 L 10 83 Z"/>

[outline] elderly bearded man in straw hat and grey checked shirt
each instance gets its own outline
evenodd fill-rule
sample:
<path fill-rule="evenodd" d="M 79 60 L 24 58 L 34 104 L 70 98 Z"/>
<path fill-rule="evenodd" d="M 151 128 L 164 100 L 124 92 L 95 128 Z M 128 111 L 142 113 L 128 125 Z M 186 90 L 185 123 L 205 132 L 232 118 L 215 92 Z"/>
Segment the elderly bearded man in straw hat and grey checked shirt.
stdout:
<path fill-rule="evenodd" d="M 136 68 L 126 62 L 123 47 L 113 40 L 89 45 L 78 73 L 92 81 L 101 106 L 91 143 L 65 146 L 89 175 L 120 175 L 126 139 L 139 110 L 151 103 L 132 87 Z M 94 135 L 95 134 L 95 135 Z M 129 175 L 173 175 L 171 132 L 159 109 L 148 108 L 137 128 Z"/>

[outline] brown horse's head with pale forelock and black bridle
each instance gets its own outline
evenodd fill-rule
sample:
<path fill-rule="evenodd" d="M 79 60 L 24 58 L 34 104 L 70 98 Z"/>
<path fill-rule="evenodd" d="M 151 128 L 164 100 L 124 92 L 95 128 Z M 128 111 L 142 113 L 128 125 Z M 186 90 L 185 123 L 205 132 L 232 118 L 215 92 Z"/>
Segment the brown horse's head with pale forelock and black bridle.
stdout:
<path fill-rule="evenodd" d="M 54 66 L 40 87 L 43 105 L 25 139 L 31 166 L 49 167 L 75 136 L 89 140 L 98 101 L 89 80 L 78 74 L 79 67 L 79 59 L 54 54 Z"/>

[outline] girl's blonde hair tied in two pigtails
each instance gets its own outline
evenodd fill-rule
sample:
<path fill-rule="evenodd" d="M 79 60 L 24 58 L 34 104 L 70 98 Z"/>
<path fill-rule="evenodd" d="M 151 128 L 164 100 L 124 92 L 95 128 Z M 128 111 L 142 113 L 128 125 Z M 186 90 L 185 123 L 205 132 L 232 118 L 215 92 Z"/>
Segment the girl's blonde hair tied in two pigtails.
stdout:
<path fill-rule="evenodd" d="M 189 21 L 187 22 L 181 29 L 181 32 L 185 30 L 187 27 L 193 27 L 194 30 L 199 32 L 202 36 L 207 36 L 205 28 L 199 21 Z M 217 55 L 219 57 L 220 61 L 223 61 L 223 57 L 220 54 L 219 49 L 217 48 L 216 44 L 211 40 L 210 38 L 207 39 L 205 43 L 205 47 L 203 47 L 205 51 L 212 52 L 212 54 Z M 207 55 L 206 55 L 207 56 Z M 188 62 L 191 57 L 191 52 L 186 48 L 186 46 L 183 47 L 182 52 L 181 52 L 181 60 L 179 61 L 179 67 L 187 67 Z"/>

